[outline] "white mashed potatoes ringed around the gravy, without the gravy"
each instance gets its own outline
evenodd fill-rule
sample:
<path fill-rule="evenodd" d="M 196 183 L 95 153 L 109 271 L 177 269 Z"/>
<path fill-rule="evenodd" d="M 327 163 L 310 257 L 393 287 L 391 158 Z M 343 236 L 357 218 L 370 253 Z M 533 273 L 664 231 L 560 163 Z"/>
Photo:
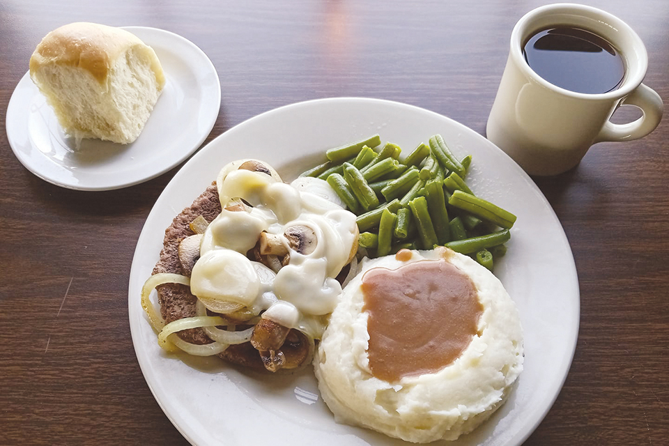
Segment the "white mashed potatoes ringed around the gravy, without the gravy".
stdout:
<path fill-rule="evenodd" d="M 417 261 L 446 261 L 471 280 L 481 312 L 459 357 L 426 374 L 384 380 L 370 367 L 365 272 L 397 270 Z M 397 335 L 405 329 L 396 324 Z M 413 347 L 412 347 L 413 348 Z M 420 348 L 420 346 L 417 346 Z M 362 263 L 332 313 L 314 361 L 318 386 L 338 422 L 360 425 L 414 443 L 454 440 L 499 408 L 523 369 L 521 324 L 500 281 L 468 256 L 449 249 L 403 252 Z"/>

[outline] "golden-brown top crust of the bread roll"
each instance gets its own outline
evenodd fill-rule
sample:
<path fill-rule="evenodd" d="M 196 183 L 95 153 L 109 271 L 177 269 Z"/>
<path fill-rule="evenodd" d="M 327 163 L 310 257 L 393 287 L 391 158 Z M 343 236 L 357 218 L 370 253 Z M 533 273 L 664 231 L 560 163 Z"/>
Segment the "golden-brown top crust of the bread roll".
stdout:
<path fill-rule="evenodd" d="M 30 74 L 50 64 L 82 68 L 100 83 L 107 81 L 114 61 L 132 47 L 145 47 L 159 89 L 165 84 L 164 73 L 155 52 L 137 36 L 124 29 L 102 24 L 76 22 L 48 33 L 30 58 Z"/>

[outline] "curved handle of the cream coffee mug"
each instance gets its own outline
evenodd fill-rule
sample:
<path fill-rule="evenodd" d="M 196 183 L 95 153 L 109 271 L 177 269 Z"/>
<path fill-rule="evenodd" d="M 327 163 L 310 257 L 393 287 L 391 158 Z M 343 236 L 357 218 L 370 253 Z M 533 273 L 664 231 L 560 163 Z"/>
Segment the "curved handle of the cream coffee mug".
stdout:
<path fill-rule="evenodd" d="M 655 130 L 662 119 L 664 105 L 662 98 L 653 89 L 640 84 L 638 88 L 626 96 L 622 105 L 634 105 L 641 109 L 643 116 L 636 121 L 626 124 L 614 124 L 606 121 L 597 135 L 595 142 L 601 141 L 631 141 L 645 137 Z"/>

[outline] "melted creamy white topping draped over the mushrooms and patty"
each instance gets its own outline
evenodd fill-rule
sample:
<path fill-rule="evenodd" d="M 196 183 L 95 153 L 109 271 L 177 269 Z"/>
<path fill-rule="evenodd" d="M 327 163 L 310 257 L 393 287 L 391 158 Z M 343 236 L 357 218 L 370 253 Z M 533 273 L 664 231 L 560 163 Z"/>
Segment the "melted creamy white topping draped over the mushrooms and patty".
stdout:
<path fill-rule="evenodd" d="M 213 311 L 225 302 L 254 314 L 266 310 L 263 318 L 320 338 L 341 293 L 335 277 L 357 238 L 355 215 L 257 171 L 232 170 L 217 183 L 223 210 L 203 234 L 192 293 Z M 225 209 L 234 199 L 252 207 Z M 280 236 L 295 226 L 313 231 L 310 252 L 281 236 L 289 261 L 278 272 L 247 258 L 262 231 Z"/>

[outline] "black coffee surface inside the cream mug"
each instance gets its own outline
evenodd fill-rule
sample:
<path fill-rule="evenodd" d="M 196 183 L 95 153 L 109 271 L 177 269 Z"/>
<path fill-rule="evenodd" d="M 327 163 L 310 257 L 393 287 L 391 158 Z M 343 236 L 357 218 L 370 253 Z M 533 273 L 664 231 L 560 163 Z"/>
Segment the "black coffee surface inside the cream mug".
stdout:
<path fill-rule="evenodd" d="M 537 75 L 577 93 L 606 93 L 620 88 L 625 66 L 606 40 L 585 29 L 555 26 L 535 33 L 523 56 Z"/>

